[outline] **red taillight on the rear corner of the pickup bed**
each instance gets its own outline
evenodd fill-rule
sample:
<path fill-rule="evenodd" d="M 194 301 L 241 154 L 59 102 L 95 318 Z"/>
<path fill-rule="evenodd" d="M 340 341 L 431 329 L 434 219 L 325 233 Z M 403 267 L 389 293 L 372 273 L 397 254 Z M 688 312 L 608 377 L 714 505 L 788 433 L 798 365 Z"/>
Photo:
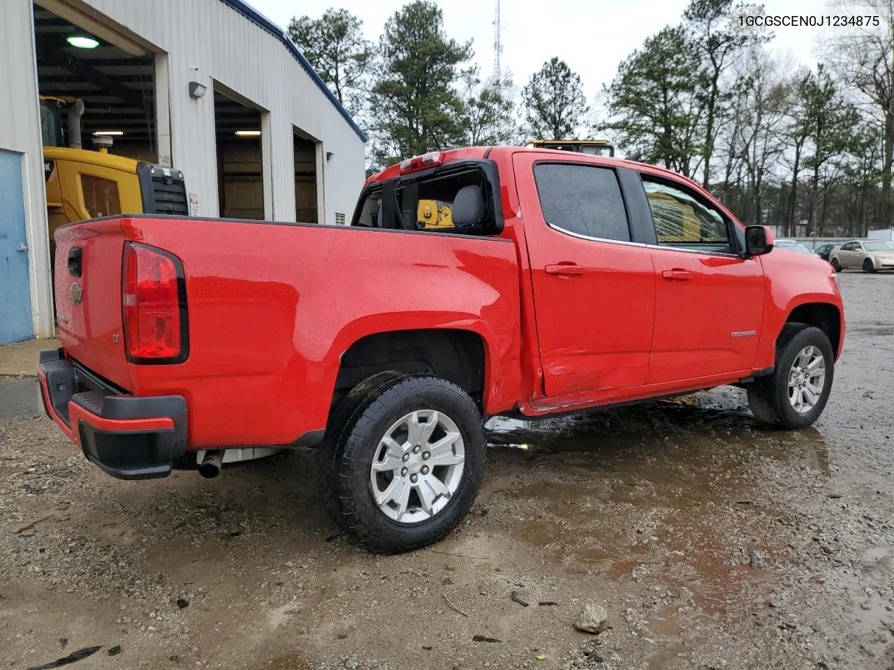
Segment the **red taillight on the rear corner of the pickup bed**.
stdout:
<path fill-rule="evenodd" d="M 131 363 L 182 363 L 189 355 L 180 260 L 161 249 L 124 247 L 124 348 Z"/>

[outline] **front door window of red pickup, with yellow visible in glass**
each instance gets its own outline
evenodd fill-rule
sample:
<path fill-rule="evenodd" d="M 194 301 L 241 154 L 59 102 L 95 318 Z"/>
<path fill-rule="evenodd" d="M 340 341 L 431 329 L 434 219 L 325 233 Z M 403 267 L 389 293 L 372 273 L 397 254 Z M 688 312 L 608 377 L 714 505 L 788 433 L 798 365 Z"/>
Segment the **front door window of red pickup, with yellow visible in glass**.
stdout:
<path fill-rule="evenodd" d="M 643 177 L 645 197 L 652 210 L 655 237 L 662 247 L 731 254 L 726 219 L 683 188 Z"/>

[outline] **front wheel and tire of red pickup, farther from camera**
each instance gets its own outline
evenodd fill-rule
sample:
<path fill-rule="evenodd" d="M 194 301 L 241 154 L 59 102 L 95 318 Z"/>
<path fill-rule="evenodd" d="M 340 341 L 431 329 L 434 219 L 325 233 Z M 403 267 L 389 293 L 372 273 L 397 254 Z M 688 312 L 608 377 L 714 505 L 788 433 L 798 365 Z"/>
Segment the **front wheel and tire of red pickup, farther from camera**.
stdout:
<path fill-rule="evenodd" d="M 835 354 L 819 328 L 789 323 L 776 343 L 772 374 L 748 386 L 755 419 L 784 428 L 806 428 L 822 414 L 831 392 Z"/>

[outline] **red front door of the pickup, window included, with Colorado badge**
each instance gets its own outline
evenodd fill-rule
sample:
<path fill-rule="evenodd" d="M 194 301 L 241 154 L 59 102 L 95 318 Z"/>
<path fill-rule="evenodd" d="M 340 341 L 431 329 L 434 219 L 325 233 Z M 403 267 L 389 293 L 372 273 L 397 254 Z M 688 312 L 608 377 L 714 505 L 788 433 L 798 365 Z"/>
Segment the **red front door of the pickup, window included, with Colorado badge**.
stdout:
<path fill-rule="evenodd" d="M 751 373 L 763 321 L 763 268 L 738 255 L 730 222 L 676 182 L 643 175 L 655 226 L 650 383 Z"/>

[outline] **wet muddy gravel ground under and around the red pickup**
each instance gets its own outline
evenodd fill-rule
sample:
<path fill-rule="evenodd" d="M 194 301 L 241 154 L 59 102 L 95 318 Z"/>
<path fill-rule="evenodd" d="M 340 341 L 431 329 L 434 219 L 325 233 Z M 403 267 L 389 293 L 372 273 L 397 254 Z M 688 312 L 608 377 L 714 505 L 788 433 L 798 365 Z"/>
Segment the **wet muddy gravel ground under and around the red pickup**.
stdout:
<path fill-rule="evenodd" d="M 308 453 L 119 482 L 6 380 L 0 667 L 890 670 L 894 276 L 840 283 L 814 428 L 759 427 L 738 389 L 495 420 L 468 521 L 399 557 L 336 534 Z M 587 603 L 609 630 L 574 630 Z"/>

